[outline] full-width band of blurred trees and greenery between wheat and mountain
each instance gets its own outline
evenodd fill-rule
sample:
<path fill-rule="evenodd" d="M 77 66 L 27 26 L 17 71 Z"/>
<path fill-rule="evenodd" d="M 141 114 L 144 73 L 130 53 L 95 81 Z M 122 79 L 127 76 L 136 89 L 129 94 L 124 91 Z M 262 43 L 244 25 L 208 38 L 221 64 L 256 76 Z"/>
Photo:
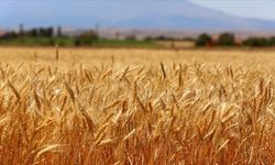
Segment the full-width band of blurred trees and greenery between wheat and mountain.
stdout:
<path fill-rule="evenodd" d="M 0 36 L 0 45 L 26 45 L 26 46 L 97 46 L 97 47 L 162 47 L 162 48 L 186 48 L 186 47 L 271 47 L 275 46 L 273 37 L 249 37 L 238 41 L 233 33 L 221 33 L 219 36 L 211 36 L 202 33 L 197 38 L 175 38 L 165 35 L 147 36 L 143 40 L 135 35 L 128 35 L 124 38 L 102 38 L 96 31 L 84 31 L 78 35 L 65 35 L 62 28 L 36 28 L 24 31 L 20 26 L 19 32 L 8 32 Z"/>

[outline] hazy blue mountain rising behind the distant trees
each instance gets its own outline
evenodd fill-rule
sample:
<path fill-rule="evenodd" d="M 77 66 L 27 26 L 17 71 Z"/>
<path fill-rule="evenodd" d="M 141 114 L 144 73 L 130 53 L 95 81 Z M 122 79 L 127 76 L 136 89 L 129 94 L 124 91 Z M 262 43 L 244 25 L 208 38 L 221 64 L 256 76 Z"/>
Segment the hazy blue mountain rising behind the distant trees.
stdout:
<path fill-rule="evenodd" d="M 190 1 L 3 1 L 0 28 L 63 25 L 194 31 L 275 31 L 275 21 L 248 19 Z"/>

